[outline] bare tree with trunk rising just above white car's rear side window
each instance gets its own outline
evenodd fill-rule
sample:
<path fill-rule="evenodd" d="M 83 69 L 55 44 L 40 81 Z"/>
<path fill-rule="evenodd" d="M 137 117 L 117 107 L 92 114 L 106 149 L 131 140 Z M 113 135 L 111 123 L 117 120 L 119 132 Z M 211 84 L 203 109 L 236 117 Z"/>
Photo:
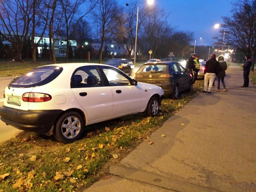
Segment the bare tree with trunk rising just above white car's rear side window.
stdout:
<path fill-rule="evenodd" d="M 102 61 L 104 42 L 109 40 L 118 29 L 122 18 L 122 9 L 116 0 L 99 0 L 93 11 L 95 23 L 98 25 L 101 47 L 99 49 L 98 63 Z"/>

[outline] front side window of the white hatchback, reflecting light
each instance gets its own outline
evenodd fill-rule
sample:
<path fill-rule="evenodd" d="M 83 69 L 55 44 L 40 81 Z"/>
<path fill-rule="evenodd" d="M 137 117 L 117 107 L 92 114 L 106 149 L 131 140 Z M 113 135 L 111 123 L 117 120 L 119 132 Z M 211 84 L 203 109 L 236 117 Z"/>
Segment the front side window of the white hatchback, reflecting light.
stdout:
<path fill-rule="evenodd" d="M 118 71 L 117 69 L 108 66 L 101 66 L 101 69 L 106 75 L 106 78 L 110 86 L 131 85 L 129 77 L 125 74 L 122 74 L 121 71 Z"/>

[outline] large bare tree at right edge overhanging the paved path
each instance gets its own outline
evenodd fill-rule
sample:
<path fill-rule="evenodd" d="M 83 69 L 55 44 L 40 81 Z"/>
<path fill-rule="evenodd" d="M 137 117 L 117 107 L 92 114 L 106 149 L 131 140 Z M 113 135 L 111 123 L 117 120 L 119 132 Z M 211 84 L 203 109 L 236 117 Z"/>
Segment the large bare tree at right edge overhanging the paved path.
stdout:
<path fill-rule="evenodd" d="M 218 45 L 230 45 L 244 55 L 252 55 L 254 71 L 256 59 L 256 0 L 242 0 L 233 4 L 232 15 L 223 17 Z M 225 36 L 224 36 L 225 35 Z M 224 40 L 223 40 L 224 36 Z"/>

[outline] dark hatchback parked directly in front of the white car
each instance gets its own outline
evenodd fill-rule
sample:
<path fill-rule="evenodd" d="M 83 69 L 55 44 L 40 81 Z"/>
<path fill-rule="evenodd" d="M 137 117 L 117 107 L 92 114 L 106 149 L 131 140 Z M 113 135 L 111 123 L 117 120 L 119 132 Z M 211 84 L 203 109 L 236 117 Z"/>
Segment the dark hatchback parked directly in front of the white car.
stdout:
<path fill-rule="evenodd" d="M 166 95 L 176 99 L 181 91 L 193 90 L 192 75 L 177 62 L 143 64 L 134 78 L 139 82 L 160 86 Z"/>

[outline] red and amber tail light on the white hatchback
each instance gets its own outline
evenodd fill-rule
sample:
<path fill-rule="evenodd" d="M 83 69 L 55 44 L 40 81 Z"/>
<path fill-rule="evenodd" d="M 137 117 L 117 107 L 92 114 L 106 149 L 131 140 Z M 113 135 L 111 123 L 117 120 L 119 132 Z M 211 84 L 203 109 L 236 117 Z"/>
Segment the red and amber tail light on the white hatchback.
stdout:
<path fill-rule="evenodd" d="M 22 95 L 22 101 L 32 103 L 50 101 L 51 99 L 52 96 L 42 93 L 25 93 Z"/>

